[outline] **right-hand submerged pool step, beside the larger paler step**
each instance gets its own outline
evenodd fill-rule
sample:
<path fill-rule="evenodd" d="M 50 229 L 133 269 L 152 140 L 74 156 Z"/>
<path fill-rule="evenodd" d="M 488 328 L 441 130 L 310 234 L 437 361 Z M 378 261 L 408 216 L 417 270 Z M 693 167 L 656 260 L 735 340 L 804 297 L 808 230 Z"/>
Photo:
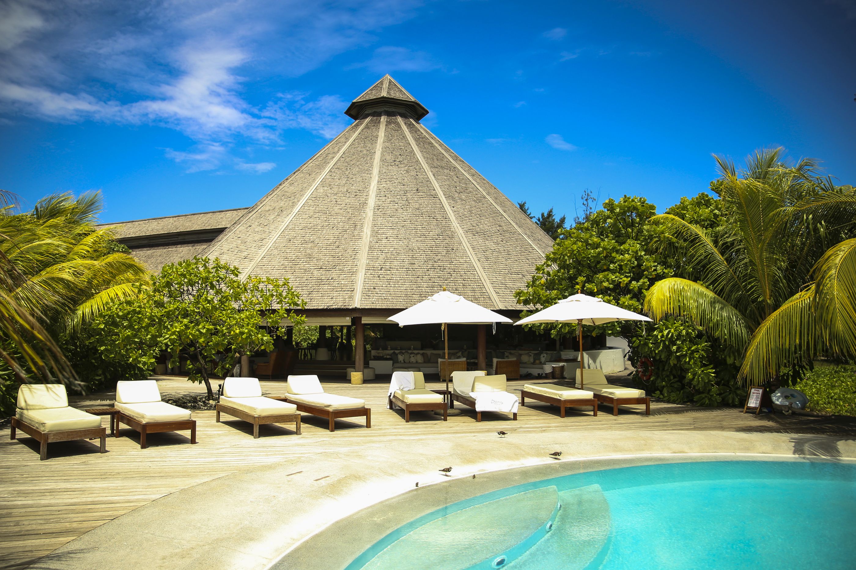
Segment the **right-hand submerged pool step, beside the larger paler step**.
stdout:
<path fill-rule="evenodd" d="M 612 520 L 609 502 L 600 485 L 559 493 L 562 509 L 552 530 L 525 554 L 504 568 L 562 568 L 583 570 L 599 567 L 609 545 Z"/>

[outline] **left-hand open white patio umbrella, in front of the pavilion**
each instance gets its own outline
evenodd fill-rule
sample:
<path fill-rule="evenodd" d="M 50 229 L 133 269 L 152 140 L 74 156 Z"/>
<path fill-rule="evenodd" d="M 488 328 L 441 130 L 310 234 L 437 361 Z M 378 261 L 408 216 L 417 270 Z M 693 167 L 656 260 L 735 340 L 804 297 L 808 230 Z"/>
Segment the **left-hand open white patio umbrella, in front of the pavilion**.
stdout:
<path fill-rule="evenodd" d="M 410 309 L 393 314 L 389 320 L 394 320 L 398 326 L 407 325 L 443 325 L 443 338 L 446 340 L 446 360 L 449 360 L 449 325 L 487 325 L 490 323 L 510 323 L 511 319 L 502 314 L 484 309 L 472 301 L 467 301 L 451 291 L 440 291 L 433 297 L 416 303 Z M 446 379 L 446 390 L 449 390 L 449 379 Z"/>

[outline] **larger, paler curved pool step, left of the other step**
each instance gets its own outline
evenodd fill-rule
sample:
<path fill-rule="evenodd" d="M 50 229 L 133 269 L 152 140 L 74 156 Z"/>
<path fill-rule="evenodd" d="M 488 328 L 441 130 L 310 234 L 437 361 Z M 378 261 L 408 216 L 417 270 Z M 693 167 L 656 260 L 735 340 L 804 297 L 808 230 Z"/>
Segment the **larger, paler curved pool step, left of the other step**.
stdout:
<path fill-rule="evenodd" d="M 558 506 L 551 486 L 463 508 L 389 544 L 363 570 L 462 570 L 493 567 L 501 556 L 512 561 L 548 535 Z"/>

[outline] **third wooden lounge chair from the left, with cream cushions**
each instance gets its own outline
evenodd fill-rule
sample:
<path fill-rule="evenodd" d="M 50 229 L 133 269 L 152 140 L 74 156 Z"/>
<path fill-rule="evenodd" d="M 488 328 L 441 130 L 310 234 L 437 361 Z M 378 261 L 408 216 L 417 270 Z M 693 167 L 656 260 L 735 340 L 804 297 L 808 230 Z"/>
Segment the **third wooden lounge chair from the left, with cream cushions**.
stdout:
<path fill-rule="evenodd" d="M 262 396 L 258 378 L 227 378 L 223 380 L 223 396 L 215 408 L 214 420 L 229 414 L 253 424 L 253 438 L 259 438 L 259 426 L 294 421 L 294 431 L 300 435 L 300 414 L 297 406 Z"/>

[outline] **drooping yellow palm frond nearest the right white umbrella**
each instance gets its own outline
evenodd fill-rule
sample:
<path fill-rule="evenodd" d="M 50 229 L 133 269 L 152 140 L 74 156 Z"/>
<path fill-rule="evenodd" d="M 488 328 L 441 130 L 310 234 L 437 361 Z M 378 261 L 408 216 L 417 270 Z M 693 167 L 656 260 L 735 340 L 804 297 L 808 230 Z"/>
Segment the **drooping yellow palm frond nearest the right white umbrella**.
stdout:
<path fill-rule="evenodd" d="M 740 348 L 749 340 L 746 317 L 704 285 L 688 279 L 657 281 L 645 296 L 645 312 L 654 320 L 668 315 L 685 317 L 710 336 Z"/>

